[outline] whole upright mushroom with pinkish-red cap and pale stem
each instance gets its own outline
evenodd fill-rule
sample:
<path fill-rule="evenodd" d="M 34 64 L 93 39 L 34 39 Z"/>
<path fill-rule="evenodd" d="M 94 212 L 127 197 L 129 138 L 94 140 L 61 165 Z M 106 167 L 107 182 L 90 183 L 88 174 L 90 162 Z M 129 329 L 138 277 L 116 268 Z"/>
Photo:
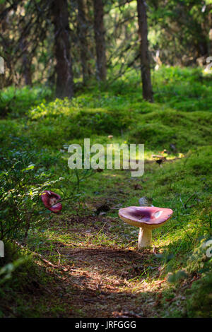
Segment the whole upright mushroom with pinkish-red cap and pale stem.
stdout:
<path fill-rule="evenodd" d="M 138 247 L 143 248 L 151 246 L 152 230 L 164 225 L 172 213 L 170 208 L 129 206 L 120 208 L 119 217 L 129 225 L 140 228 Z"/>

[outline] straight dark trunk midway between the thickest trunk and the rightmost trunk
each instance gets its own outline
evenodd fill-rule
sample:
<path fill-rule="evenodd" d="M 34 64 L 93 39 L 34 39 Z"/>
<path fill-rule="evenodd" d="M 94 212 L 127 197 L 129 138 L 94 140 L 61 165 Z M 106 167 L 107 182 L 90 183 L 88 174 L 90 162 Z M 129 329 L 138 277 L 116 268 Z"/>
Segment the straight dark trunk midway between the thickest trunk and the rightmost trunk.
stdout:
<path fill-rule="evenodd" d="M 102 0 L 93 0 L 95 50 L 97 59 L 97 78 L 105 81 L 107 76 L 105 54 L 104 6 Z"/>

